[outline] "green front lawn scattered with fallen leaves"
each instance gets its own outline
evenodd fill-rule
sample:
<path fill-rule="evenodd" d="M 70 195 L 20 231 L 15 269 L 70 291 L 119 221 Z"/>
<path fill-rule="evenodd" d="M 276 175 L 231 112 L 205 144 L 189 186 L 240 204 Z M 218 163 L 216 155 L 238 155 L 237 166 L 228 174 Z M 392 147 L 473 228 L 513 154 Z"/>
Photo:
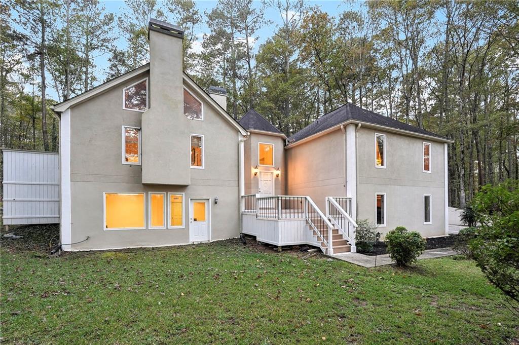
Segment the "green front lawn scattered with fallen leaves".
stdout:
<path fill-rule="evenodd" d="M 49 257 L 1 250 L 2 343 L 510 344 L 472 261 L 365 269 L 237 240 Z M 16 240 L 18 241 L 18 240 Z"/>

